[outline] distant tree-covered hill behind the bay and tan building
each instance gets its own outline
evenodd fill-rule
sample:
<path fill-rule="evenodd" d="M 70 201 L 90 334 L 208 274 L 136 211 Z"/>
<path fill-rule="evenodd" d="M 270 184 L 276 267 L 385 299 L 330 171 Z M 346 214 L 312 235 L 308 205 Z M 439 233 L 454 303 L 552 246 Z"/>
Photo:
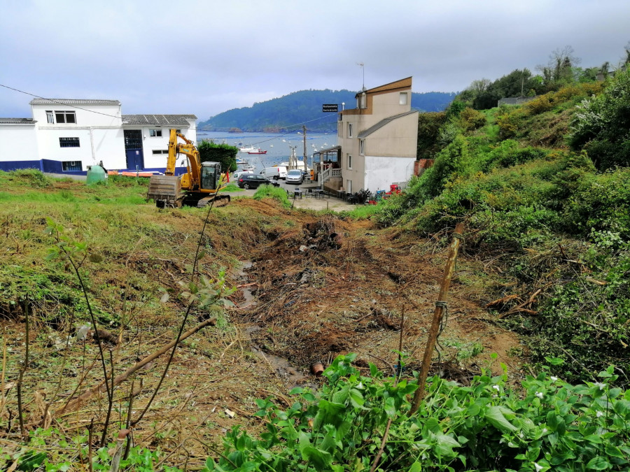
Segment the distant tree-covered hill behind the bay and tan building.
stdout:
<path fill-rule="evenodd" d="M 323 103 L 337 103 L 341 110 L 356 108 L 357 92 L 350 90 L 300 90 L 278 99 L 234 108 L 200 122 L 198 129 L 207 131 L 283 131 L 307 123 L 310 131 L 336 131 L 337 113 L 323 113 Z M 455 92 L 412 93 L 412 108 L 441 111 L 455 98 Z"/>

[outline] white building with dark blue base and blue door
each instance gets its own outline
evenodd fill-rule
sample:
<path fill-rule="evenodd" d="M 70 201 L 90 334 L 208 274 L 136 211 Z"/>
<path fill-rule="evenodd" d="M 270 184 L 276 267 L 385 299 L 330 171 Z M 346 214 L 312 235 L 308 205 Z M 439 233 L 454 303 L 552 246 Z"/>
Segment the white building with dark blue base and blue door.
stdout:
<path fill-rule="evenodd" d="M 197 139 L 195 115 L 123 115 L 118 100 L 34 99 L 32 118 L 0 118 L 0 169 L 164 171 L 169 129 Z M 16 145 L 19 143 L 19 146 Z"/>

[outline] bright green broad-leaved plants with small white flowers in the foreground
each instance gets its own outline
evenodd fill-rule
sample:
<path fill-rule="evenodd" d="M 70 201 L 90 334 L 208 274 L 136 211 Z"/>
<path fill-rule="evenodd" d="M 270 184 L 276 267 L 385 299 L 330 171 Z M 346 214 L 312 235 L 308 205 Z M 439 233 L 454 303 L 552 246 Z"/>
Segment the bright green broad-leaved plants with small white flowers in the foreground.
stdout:
<path fill-rule="evenodd" d="M 496 358 L 496 355 L 493 357 Z M 543 367 L 517 390 L 488 371 L 468 386 L 430 379 L 419 411 L 408 416 L 415 380 L 370 376 L 342 355 L 318 392 L 297 387 L 282 410 L 258 400 L 267 431 L 232 429 L 205 471 L 367 471 L 381 443 L 377 471 L 627 470 L 630 392 L 613 387 L 610 367 L 598 382 L 570 385 Z M 561 367 L 561 359 L 549 358 Z"/>

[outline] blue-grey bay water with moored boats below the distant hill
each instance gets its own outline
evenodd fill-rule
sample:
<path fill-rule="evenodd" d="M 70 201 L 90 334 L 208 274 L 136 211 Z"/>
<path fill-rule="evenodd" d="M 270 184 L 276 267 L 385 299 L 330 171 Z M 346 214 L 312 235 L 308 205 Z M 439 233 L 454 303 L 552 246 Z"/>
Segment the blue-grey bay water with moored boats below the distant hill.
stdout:
<path fill-rule="evenodd" d="M 297 160 L 304 160 L 304 136 L 302 131 L 288 133 L 228 133 L 225 131 L 197 131 L 197 141 L 209 139 L 216 144 L 228 144 L 237 148 L 246 148 L 250 145 L 261 150 L 266 150 L 267 154 L 247 154 L 239 152 L 239 159 L 250 163 L 255 173 L 262 171 L 265 167 L 272 167 L 281 162 L 288 162 L 291 155 L 291 147 L 295 148 Z M 332 148 L 337 145 L 336 133 L 309 133 L 306 136 L 307 165 L 313 167 L 312 159 L 314 152 L 322 149 Z M 239 169 L 242 166 L 239 166 Z"/>

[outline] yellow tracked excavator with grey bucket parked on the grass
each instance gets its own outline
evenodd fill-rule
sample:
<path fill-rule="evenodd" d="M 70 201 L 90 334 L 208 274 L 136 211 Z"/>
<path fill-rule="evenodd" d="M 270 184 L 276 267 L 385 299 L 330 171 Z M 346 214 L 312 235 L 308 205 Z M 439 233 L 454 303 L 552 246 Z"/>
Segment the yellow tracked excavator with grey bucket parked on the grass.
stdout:
<path fill-rule="evenodd" d="M 179 143 L 177 138 L 184 142 Z M 188 172 L 175 176 L 175 164 L 178 155 L 188 158 Z M 196 206 L 203 208 L 214 201 L 214 206 L 230 203 L 230 195 L 219 195 L 219 190 L 227 184 L 225 174 L 221 173 L 220 162 L 201 162 L 199 151 L 193 141 L 171 130 L 169 138 L 169 158 L 164 176 L 151 176 L 147 200 L 155 200 L 158 208 L 181 208 Z"/>

